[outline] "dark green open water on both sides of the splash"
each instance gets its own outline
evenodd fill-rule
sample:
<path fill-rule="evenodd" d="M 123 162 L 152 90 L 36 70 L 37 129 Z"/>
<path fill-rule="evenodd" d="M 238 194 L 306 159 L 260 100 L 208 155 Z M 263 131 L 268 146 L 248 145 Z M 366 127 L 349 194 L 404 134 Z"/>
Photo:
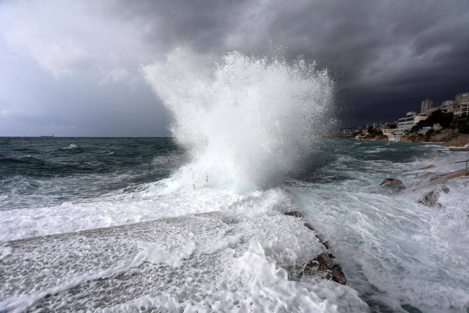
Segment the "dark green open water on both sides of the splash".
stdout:
<path fill-rule="evenodd" d="M 375 147 L 354 143 L 320 142 L 320 149 L 289 176 L 327 183 L 350 179 L 340 172 L 350 167 L 358 173 L 372 170 L 387 175 L 387 167 L 370 168 L 367 162 L 391 162 L 399 167 L 435 154 L 428 149 L 405 149 L 425 144 L 400 143 L 380 150 L 381 142 L 371 142 Z M 363 153 L 370 148 L 376 151 Z M 183 149 L 170 137 L 0 137 L 0 207 L 52 206 L 109 192 L 131 192 L 140 184 L 169 177 L 186 161 Z"/>

